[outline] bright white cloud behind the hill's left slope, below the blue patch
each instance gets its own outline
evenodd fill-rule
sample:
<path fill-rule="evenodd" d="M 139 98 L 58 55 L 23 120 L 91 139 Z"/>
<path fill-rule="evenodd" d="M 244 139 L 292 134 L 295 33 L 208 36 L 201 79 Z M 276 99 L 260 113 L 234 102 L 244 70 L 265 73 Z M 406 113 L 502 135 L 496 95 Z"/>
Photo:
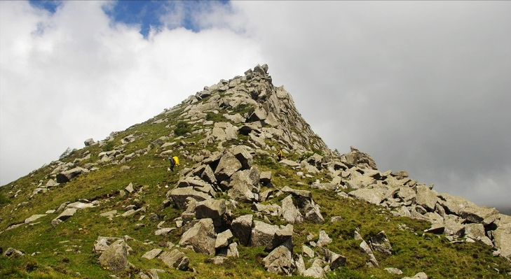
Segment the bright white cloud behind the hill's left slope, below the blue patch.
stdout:
<path fill-rule="evenodd" d="M 86 138 L 105 138 L 239 75 L 260 56 L 229 30 L 165 29 L 147 41 L 136 27 L 110 24 L 92 1 L 65 2 L 53 16 L 2 1 L 1 28 L 2 185 L 68 146 L 81 148 Z"/>

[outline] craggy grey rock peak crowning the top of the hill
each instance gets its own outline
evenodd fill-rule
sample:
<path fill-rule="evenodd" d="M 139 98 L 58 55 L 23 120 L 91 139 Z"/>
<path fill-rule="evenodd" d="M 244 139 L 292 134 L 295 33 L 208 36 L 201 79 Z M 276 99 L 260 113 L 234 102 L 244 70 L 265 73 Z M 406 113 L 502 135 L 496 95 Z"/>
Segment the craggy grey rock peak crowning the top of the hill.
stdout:
<path fill-rule="evenodd" d="M 214 129 L 207 130 L 206 138 L 200 143 L 234 139 L 236 132 L 229 131 L 237 130 L 250 137 L 248 143 L 254 148 L 275 152 L 282 149 L 299 155 L 307 152 L 332 155 L 325 142 L 301 117 L 292 96 L 284 87 L 273 86 L 266 64 L 245 71 L 245 76 L 204 87 L 203 91 L 189 96 L 165 115 L 180 109 L 183 110 L 179 116 L 181 121 L 206 126 L 214 124 Z M 214 115 L 217 121 L 208 120 L 208 114 Z M 224 122 L 219 121 L 221 119 Z M 233 125 L 238 127 L 231 128 Z M 272 143 L 267 144 L 266 139 L 272 139 Z"/>

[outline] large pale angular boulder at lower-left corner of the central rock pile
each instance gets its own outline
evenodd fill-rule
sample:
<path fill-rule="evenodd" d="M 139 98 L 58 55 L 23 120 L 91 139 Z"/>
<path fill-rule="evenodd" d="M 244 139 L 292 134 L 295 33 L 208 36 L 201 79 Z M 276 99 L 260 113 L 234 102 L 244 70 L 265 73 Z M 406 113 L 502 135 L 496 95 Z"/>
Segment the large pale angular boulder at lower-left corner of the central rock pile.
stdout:
<path fill-rule="evenodd" d="M 200 219 L 188 231 L 181 236 L 179 245 L 185 247 L 191 245 L 195 252 L 202 252 L 214 256 L 214 242 L 217 236 L 214 234 L 213 220 L 210 218 Z"/>

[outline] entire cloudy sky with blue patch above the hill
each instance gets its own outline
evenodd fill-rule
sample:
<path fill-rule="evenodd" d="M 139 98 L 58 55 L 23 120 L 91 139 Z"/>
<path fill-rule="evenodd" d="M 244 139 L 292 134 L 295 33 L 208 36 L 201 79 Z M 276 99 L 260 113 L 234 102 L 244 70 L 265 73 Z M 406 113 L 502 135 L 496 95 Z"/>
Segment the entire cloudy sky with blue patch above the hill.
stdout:
<path fill-rule="evenodd" d="M 268 64 L 332 150 L 511 200 L 509 1 L 0 1 L 0 185 Z"/>

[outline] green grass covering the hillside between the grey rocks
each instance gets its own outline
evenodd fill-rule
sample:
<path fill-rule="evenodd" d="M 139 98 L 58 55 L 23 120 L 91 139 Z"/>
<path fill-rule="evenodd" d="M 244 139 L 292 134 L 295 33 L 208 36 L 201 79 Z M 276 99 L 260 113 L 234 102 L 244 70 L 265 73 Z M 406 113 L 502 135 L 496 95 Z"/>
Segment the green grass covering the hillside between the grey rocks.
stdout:
<path fill-rule="evenodd" d="M 232 114 L 241 115 L 249 112 L 250 107 L 233 108 Z M 125 146 L 124 153 L 130 154 L 137 150 L 147 152 L 133 157 L 126 164 L 102 164 L 99 170 L 84 173 L 69 183 L 50 188 L 46 193 L 32 194 L 39 183 L 46 183 L 55 162 L 33 171 L 13 183 L 0 188 L 0 230 L 11 224 L 23 222 L 34 214 L 45 213 L 46 210 L 58 208 L 64 202 L 88 199 L 100 201 L 100 206 L 78 210 L 69 220 L 53 227 L 50 222 L 57 213 L 48 214 L 31 224 L 4 231 L 0 234 L 0 246 L 13 247 L 25 252 L 24 257 L 0 257 L 0 278 L 110 278 L 108 270 L 102 269 L 97 262 L 99 255 L 93 252 L 97 236 L 130 236 L 128 241 L 132 248 L 129 260 L 135 269 L 116 274 L 120 278 L 139 278 L 139 270 L 164 269 L 168 273 L 160 273 L 160 278 L 288 278 L 276 276 L 264 270 L 262 259 L 268 255 L 263 248 L 238 246 L 239 259 L 229 259 L 229 262 L 215 266 L 205 262 L 209 256 L 184 250 L 190 258 L 190 266 L 197 273 L 169 269 L 158 259 L 147 260 L 141 256 L 153 248 L 162 248 L 165 243 L 178 243 L 181 231 L 172 231 L 165 236 L 155 236 L 158 222 L 151 222 L 147 215 L 156 213 L 162 220 L 172 223 L 182 213 L 177 208 L 163 207 L 167 199 L 165 194 L 179 180 L 179 173 L 168 172 L 168 160 L 160 155 L 163 151 L 155 144 L 161 136 L 172 135 L 176 145 L 175 155 L 181 159 L 181 168 L 190 167 L 195 162 L 185 159 L 197 155 L 201 150 L 217 150 L 217 145 L 200 145 L 198 141 L 204 138 L 201 133 L 194 131 L 203 129 L 198 124 L 189 124 L 179 120 L 182 110 L 175 110 L 168 115 L 158 115 L 147 122 L 134 125 L 118 133 L 113 141 L 102 146 L 92 145 L 71 152 L 62 162 L 75 162 L 90 152 L 90 159 L 77 164 L 94 163 L 99 159 L 100 152 L 114 150 L 122 145 L 121 139 L 129 135 L 137 136 L 137 140 Z M 168 119 L 159 122 L 157 120 Z M 220 114 L 208 113 L 207 120 L 226 121 Z M 174 140 L 169 140 L 174 141 Z M 247 136 L 238 135 L 238 140 L 224 144 L 228 148 L 232 144 L 245 143 Z M 268 142 L 271 144 L 271 141 Z M 275 143 L 275 145 L 277 145 Z M 314 150 L 311 150 L 311 155 Z M 186 155 L 186 156 L 185 156 Z M 298 159 L 298 155 L 290 155 L 289 159 Z M 271 156 L 258 155 L 254 157 L 254 165 L 261 171 L 271 170 L 272 184 L 275 188 L 285 186 L 294 189 L 307 189 L 313 192 L 313 199 L 321 206 L 322 215 L 327 222 L 324 224 L 302 223 L 294 225 L 294 252 L 301 252 L 301 245 L 308 243 L 308 236 L 318 240 L 320 230 L 325 230 L 334 241 L 327 245 L 329 250 L 344 255 L 346 265 L 327 273 L 328 278 L 402 278 L 425 272 L 429 278 L 504 278 L 504 273 L 511 271 L 510 262 L 493 257 L 491 248 L 482 243 L 449 243 L 443 236 L 423 234 L 430 227 L 427 222 L 412 220 L 406 217 L 394 217 L 388 210 L 372 204 L 353 199 L 344 199 L 335 192 L 312 189 L 308 187 L 315 180 L 325 180 L 326 173 L 318 173 L 312 178 L 302 179 L 296 171 L 275 163 Z M 121 170 L 121 166 L 130 169 Z M 179 171 L 179 169 L 178 169 Z M 120 196 L 119 190 L 129 183 L 135 185 L 137 194 Z M 263 191 L 264 189 L 261 189 Z M 220 197 L 220 196 L 219 196 Z M 226 198 L 226 196 L 222 196 Z M 266 203 L 280 203 L 285 196 L 277 196 Z M 123 213 L 126 206 L 136 204 L 147 208 L 145 213 L 130 217 L 115 217 L 109 220 L 100 217 L 100 213 L 118 210 Z M 240 204 L 233 208 L 233 215 L 251 214 L 250 204 Z M 139 220 L 141 215 L 146 217 Z M 330 217 L 341 216 L 339 222 L 329 222 Z M 258 219 L 254 216 L 256 220 Z M 273 224 L 284 224 L 278 217 L 270 217 Z M 140 224 L 135 226 L 135 224 Z M 386 231 L 393 245 L 393 255 L 383 255 L 375 252 L 379 268 L 368 268 L 367 255 L 359 248 L 360 241 L 355 241 L 354 231 L 360 231 L 361 236 L 369 238 Z M 166 249 L 166 248 L 165 248 Z M 306 267 L 310 266 L 308 258 Z M 386 267 L 401 269 L 403 274 L 393 275 L 384 270 Z M 302 278 L 293 276 L 292 278 Z"/>

